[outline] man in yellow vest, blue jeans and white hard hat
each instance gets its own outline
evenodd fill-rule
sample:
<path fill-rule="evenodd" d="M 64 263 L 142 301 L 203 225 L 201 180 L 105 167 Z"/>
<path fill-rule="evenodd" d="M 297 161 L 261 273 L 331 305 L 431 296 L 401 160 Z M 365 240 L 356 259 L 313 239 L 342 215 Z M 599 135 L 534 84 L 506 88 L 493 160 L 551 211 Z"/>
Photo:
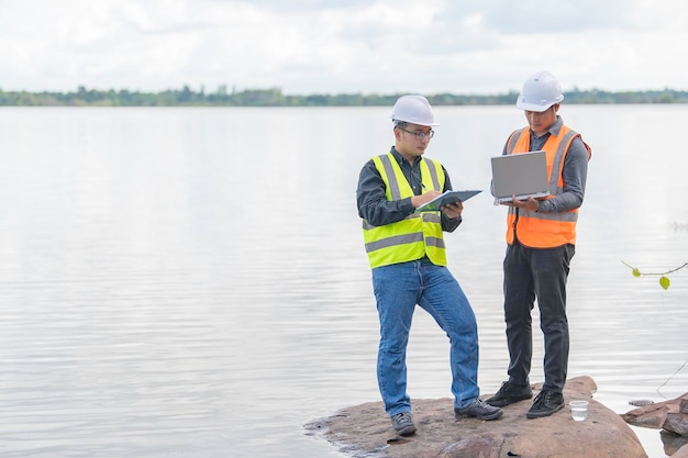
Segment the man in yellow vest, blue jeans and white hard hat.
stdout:
<path fill-rule="evenodd" d="M 385 410 L 398 434 L 415 433 L 406 350 L 413 311 L 420 305 L 450 338 L 455 415 L 499 418 L 501 409 L 478 398 L 476 319 L 446 268 L 443 232 L 458 227 L 463 204 L 415 212 L 452 189 L 444 167 L 422 157 L 437 125 L 432 108 L 422 96 L 403 96 L 395 103 L 391 119 L 395 146 L 363 167 L 356 191 L 380 320 L 377 379 Z"/>

